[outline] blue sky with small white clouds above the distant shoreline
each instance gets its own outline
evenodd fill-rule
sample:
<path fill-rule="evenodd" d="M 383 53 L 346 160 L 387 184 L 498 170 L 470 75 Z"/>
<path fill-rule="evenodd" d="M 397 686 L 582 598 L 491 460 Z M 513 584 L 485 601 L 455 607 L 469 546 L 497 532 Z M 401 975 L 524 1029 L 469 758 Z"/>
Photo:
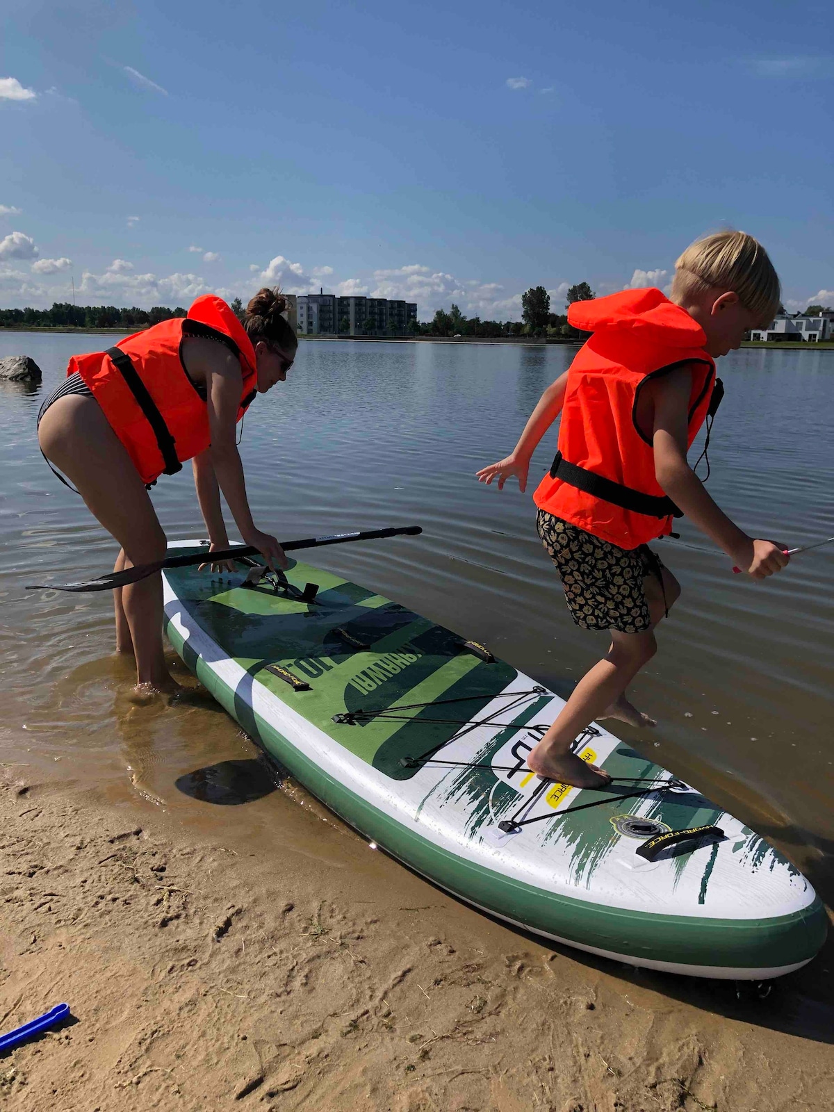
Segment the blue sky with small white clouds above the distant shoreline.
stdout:
<path fill-rule="evenodd" d="M 667 287 L 742 228 L 834 305 L 828 3 L 3 0 L 0 307 Z"/>

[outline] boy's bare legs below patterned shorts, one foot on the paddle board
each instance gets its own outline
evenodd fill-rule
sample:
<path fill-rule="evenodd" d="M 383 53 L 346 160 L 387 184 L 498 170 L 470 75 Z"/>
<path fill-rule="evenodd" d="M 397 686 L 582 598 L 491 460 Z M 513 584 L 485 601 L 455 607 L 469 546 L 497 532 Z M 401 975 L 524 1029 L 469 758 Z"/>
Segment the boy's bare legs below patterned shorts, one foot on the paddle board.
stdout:
<path fill-rule="evenodd" d="M 606 709 L 618 705 L 628 684 L 657 652 L 654 629 L 664 617 L 666 607 L 671 607 L 681 594 L 674 575 L 668 568 L 662 570 L 663 589 L 654 576 L 646 576 L 643 584 L 651 627 L 643 633 L 612 629 L 607 654 L 583 676 L 554 724 L 527 758 L 529 767 L 539 776 L 576 787 L 602 787 L 608 782 L 605 773 L 595 771 L 594 765 L 586 765 L 572 753 L 570 745 L 595 718 L 605 716 Z M 627 705 L 631 707 L 631 703 Z M 639 712 L 635 711 L 635 714 Z"/>

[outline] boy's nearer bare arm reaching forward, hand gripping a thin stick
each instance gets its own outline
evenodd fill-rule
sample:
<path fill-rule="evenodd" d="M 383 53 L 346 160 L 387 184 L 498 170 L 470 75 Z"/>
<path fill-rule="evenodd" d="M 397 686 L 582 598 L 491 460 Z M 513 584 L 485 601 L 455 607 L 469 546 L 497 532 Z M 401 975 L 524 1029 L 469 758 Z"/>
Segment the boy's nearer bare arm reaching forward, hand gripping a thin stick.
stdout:
<path fill-rule="evenodd" d="M 718 508 L 686 461 L 692 371 L 688 367 L 648 384 L 654 403 L 655 476 L 693 524 L 754 579 L 780 572 L 790 557 L 772 540 L 748 537 Z"/>

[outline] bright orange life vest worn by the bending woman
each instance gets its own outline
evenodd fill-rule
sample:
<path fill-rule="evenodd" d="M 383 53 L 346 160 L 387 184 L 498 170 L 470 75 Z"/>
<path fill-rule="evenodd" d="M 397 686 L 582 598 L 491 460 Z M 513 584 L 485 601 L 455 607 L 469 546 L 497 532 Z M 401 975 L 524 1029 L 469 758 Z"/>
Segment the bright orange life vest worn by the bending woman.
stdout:
<path fill-rule="evenodd" d="M 240 360 L 240 420 L 257 393 L 255 348 L 226 301 L 212 294 L 198 297 L 187 317 L 135 332 L 107 351 L 73 355 L 67 368 L 92 390 L 147 485 L 181 470 L 210 444 L 206 399 L 182 363 L 189 336 L 218 339 Z"/>

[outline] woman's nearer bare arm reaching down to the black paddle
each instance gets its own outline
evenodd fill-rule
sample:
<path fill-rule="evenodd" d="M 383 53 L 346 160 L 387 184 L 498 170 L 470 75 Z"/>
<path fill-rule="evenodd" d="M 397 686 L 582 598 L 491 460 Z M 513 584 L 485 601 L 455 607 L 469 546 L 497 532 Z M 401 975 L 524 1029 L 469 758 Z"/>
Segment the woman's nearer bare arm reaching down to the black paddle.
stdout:
<path fill-rule="evenodd" d="M 219 344 L 193 339 L 186 351 L 189 374 L 206 384 L 211 447 L 209 458 L 217 483 L 235 518 L 240 536 L 247 545 L 258 548 L 272 567 L 287 566 L 287 557 L 276 538 L 256 528 L 246 494 L 244 466 L 235 443 L 237 415 L 240 407 L 242 377 L 240 364 Z M 199 465 L 197 465 L 199 467 Z M 199 490 L 198 490 L 199 497 Z M 202 506 L 202 503 L 201 503 Z M 219 498 L 217 503 L 219 513 Z M 209 510 L 212 513 L 212 510 Z M 207 526 L 209 520 L 206 522 Z"/>

